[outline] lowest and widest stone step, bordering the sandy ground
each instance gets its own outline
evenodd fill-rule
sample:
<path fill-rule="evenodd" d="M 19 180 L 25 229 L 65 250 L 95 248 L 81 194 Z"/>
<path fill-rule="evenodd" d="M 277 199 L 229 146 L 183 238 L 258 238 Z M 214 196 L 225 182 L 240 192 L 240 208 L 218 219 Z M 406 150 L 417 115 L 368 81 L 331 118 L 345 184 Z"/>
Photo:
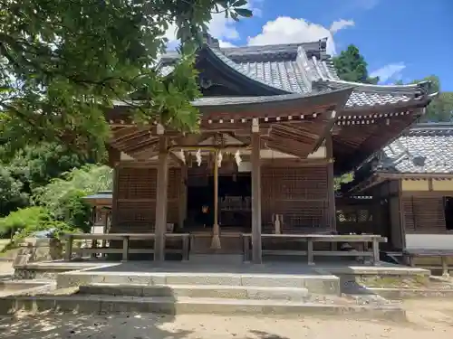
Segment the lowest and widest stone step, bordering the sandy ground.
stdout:
<path fill-rule="evenodd" d="M 45 296 L 0 298 L 0 315 L 17 311 L 105 314 L 118 312 L 215 315 L 353 315 L 354 318 L 405 320 L 396 305 L 358 306 L 284 300 L 238 300 L 192 297 Z"/>

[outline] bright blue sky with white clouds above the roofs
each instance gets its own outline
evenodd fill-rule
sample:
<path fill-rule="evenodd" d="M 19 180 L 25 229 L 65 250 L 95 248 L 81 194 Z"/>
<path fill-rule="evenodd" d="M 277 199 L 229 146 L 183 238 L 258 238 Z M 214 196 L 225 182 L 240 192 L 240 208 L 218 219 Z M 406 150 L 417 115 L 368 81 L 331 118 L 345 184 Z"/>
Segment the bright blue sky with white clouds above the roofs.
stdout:
<path fill-rule="evenodd" d="M 436 74 L 453 90 L 453 0 L 252 0 L 255 16 L 210 23 L 224 46 L 316 41 L 357 45 L 382 83 Z"/>

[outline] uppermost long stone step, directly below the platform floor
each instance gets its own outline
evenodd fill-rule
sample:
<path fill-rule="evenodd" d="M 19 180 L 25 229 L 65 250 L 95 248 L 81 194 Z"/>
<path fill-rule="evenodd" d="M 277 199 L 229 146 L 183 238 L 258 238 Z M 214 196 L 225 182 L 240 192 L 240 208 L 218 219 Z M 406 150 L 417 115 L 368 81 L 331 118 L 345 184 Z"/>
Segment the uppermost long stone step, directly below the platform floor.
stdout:
<path fill-rule="evenodd" d="M 96 283 L 145 285 L 214 285 L 243 287 L 303 287 L 310 293 L 341 293 L 340 278 L 332 275 L 190 273 L 190 272 L 66 272 L 57 276 L 57 287 L 78 287 Z"/>

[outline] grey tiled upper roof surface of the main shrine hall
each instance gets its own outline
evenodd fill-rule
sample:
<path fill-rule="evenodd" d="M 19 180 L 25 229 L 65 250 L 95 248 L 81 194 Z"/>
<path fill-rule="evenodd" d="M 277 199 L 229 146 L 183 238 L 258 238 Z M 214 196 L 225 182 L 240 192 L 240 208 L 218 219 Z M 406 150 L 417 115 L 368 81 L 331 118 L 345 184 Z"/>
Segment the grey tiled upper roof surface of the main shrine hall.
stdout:
<path fill-rule="evenodd" d="M 354 87 L 345 108 L 394 105 L 425 98 L 423 84 L 405 86 L 367 85 L 342 81 L 325 52 L 325 40 L 302 44 L 207 48 L 219 61 L 262 85 L 284 93 L 313 93 L 325 89 Z M 169 74 L 178 53 L 169 52 L 161 59 L 160 71 Z"/>

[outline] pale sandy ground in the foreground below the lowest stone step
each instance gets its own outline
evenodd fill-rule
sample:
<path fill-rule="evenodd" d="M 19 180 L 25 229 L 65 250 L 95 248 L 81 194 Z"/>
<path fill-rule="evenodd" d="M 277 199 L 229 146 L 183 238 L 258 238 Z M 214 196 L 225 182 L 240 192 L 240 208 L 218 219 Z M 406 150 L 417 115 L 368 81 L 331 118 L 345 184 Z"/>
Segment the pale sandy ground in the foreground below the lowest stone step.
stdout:
<path fill-rule="evenodd" d="M 338 317 L 282 319 L 217 315 L 18 315 L 0 319 L 5 339 L 451 339 L 453 301 L 405 304 L 410 321 L 396 324 Z"/>

